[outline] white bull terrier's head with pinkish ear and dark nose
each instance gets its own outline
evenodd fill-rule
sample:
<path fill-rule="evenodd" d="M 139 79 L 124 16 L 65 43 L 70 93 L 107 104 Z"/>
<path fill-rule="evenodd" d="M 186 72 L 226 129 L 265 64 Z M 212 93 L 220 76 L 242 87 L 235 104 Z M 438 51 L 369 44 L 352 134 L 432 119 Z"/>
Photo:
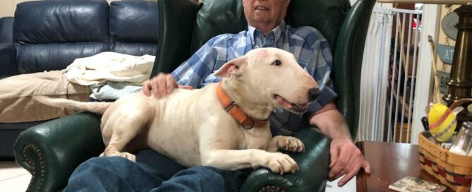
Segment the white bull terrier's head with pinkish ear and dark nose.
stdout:
<path fill-rule="evenodd" d="M 228 61 L 215 76 L 243 83 L 255 97 L 296 113 L 306 112 L 308 102 L 320 95 L 317 83 L 294 55 L 277 48 L 253 49 Z"/>

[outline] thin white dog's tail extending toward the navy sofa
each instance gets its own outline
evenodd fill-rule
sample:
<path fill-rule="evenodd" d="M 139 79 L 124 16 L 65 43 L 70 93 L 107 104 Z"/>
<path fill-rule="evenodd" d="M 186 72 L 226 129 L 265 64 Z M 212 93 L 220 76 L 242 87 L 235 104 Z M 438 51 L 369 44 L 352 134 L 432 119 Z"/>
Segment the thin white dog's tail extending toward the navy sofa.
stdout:
<path fill-rule="evenodd" d="M 103 114 L 105 110 L 110 107 L 113 102 L 78 102 L 74 100 L 67 100 L 62 98 L 51 98 L 46 96 L 34 96 L 35 100 L 47 104 L 52 107 L 66 107 L 71 109 L 78 109 L 97 114 Z"/>

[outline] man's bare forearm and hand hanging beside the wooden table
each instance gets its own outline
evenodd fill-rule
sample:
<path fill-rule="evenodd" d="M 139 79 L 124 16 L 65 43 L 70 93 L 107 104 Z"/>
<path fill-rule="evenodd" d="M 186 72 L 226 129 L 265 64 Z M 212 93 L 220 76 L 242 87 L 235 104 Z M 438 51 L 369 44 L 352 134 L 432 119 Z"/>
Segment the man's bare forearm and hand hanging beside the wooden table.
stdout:
<path fill-rule="evenodd" d="M 329 179 L 337 179 L 346 174 L 338 183 L 338 186 L 343 186 L 359 172 L 361 167 L 365 173 L 370 174 L 370 165 L 364 160 L 361 150 L 354 145 L 349 127 L 334 102 L 329 102 L 313 114 L 310 117 L 310 124 L 320 128 L 332 138 Z"/>

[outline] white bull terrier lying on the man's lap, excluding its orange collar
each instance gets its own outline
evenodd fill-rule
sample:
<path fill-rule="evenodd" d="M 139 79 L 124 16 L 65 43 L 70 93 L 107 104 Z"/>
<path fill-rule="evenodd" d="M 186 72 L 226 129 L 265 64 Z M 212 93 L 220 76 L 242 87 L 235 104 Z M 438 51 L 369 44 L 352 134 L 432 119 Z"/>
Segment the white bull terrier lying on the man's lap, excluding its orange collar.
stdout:
<path fill-rule="evenodd" d="M 308 90 L 318 87 L 292 54 L 275 48 L 254 49 L 224 64 L 215 75 L 223 77 L 223 90 L 255 119 L 267 119 L 274 107 L 305 112 Z M 216 87 L 213 83 L 196 90 L 176 89 L 160 100 L 143 92 L 116 102 L 35 98 L 56 107 L 102 113 L 107 148 L 101 156 L 135 161 L 128 152 L 150 147 L 186 167 L 234 170 L 262 166 L 280 174 L 298 169 L 291 157 L 277 149 L 302 152 L 301 140 L 272 138 L 269 124 L 244 129 L 223 109 Z"/>

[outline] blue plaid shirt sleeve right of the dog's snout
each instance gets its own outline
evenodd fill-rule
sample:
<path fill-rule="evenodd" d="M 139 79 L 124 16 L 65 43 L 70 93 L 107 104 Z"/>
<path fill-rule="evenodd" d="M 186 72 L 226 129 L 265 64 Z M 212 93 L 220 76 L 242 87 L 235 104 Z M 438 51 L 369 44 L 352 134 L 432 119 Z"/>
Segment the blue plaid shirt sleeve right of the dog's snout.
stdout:
<path fill-rule="evenodd" d="M 313 37 L 310 37 L 313 36 Z M 329 43 L 321 35 L 320 32 L 315 30 L 308 38 L 314 40 L 313 43 L 313 56 L 308 60 L 306 65 L 308 73 L 310 73 L 316 82 L 320 86 L 320 97 L 317 100 L 310 102 L 308 105 L 308 112 L 315 114 L 318 110 L 324 107 L 328 102 L 331 102 L 337 97 L 337 93 L 334 92 L 333 83 L 331 79 L 332 71 L 332 54 L 329 49 Z M 313 42 L 311 40 L 311 42 Z"/>

